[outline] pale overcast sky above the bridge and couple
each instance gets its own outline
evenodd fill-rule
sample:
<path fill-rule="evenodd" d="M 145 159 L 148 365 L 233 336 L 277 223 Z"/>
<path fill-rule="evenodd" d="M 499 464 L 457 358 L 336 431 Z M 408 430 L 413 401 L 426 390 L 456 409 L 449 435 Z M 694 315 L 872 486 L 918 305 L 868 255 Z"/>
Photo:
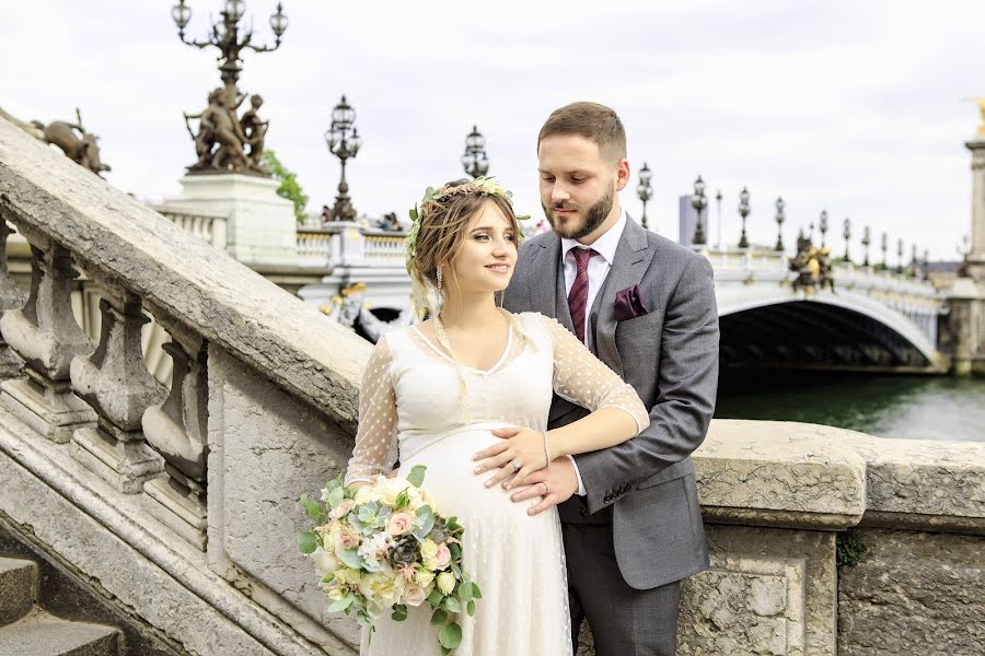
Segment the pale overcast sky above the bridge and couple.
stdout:
<path fill-rule="evenodd" d="M 152 201 L 174 196 L 195 160 L 182 112 L 201 110 L 220 82 L 215 49 L 178 42 L 174 3 L 0 0 L 0 107 L 49 121 L 78 105 L 112 184 Z M 187 4 L 187 34 L 200 38 L 222 1 Z M 247 52 L 240 86 L 264 96 L 267 147 L 299 174 L 311 210 L 332 204 L 338 184 L 322 134 L 341 94 L 363 137 L 349 166 L 355 204 L 402 216 L 428 184 L 461 176 L 477 124 L 490 174 L 514 190 L 520 213 L 538 218 L 537 130 L 554 108 L 593 99 L 627 130 L 624 207 L 638 218 L 646 161 L 651 226 L 671 238 L 676 198 L 698 174 L 725 196 L 730 243 L 742 186 L 755 243 L 776 239 L 777 195 L 788 245 L 824 208 L 838 233 L 850 216 L 931 258 L 955 258 L 970 231 L 963 142 L 978 113 L 960 101 L 985 95 L 982 0 L 283 4 L 283 45 Z M 275 7 L 246 2 L 257 43 L 273 40 Z M 715 218 L 712 202 L 712 236 Z"/>

